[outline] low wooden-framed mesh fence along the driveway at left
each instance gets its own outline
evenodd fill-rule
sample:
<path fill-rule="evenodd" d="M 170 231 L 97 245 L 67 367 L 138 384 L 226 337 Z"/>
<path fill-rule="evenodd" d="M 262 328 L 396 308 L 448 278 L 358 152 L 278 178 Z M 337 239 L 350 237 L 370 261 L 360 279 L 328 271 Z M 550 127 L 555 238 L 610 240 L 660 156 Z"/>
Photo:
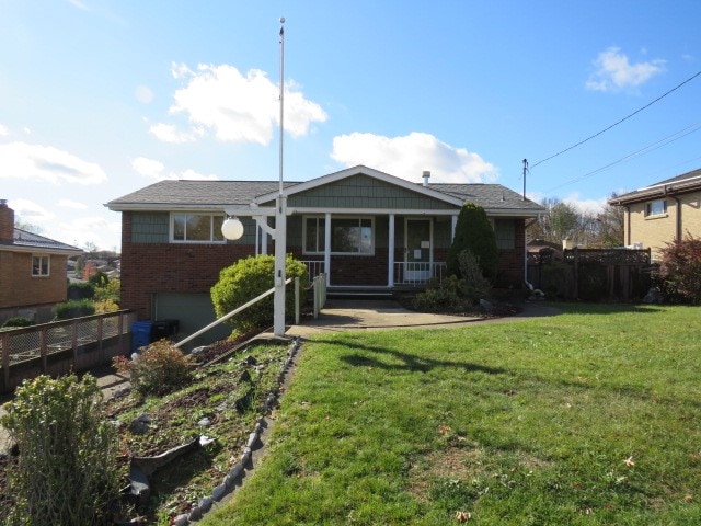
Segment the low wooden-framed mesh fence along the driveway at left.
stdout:
<path fill-rule="evenodd" d="M 136 319 L 135 311 L 119 310 L 0 331 L 0 392 L 24 379 L 88 370 L 128 354 Z"/>

